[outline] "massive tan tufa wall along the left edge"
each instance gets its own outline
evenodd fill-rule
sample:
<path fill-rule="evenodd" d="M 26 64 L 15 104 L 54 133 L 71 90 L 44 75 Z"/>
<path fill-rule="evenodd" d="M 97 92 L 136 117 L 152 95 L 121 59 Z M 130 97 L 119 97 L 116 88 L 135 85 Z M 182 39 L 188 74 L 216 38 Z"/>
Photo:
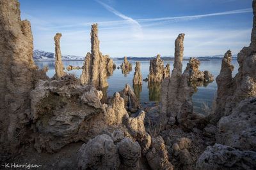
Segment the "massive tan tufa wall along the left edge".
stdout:
<path fill-rule="evenodd" d="M 0 144 L 17 152 L 15 146 L 28 140 L 29 92 L 38 79 L 47 79 L 34 64 L 31 25 L 20 20 L 17 0 L 0 1 L 0 56 Z"/>

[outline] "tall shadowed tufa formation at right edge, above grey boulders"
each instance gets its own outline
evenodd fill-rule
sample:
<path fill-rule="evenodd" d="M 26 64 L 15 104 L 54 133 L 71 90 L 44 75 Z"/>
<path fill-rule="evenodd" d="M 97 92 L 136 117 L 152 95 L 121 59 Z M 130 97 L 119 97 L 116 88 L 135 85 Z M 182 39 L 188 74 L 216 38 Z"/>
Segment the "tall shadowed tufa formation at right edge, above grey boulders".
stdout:
<path fill-rule="evenodd" d="M 253 29 L 250 46 L 244 47 L 237 54 L 238 73 L 232 78 L 234 67 L 230 64 L 231 52 L 225 53 L 218 76 L 218 94 L 216 110 L 212 122 L 216 123 L 223 115 L 230 115 L 233 108 L 246 97 L 256 97 L 256 3 L 253 1 Z"/>

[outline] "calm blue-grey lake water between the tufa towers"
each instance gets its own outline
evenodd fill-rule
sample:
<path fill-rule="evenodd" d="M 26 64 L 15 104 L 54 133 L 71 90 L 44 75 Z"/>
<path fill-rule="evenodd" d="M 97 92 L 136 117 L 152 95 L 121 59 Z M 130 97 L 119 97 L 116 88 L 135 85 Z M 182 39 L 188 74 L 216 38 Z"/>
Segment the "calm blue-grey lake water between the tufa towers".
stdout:
<path fill-rule="evenodd" d="M 122 64 L 122 60 L 114 60 L 116 67 L 120 66 Z M 125 84 L 128 83 L 132 87 L 132 78 L 134 74 L 134 67 L 136 61 L 130 61 L 132 63 L 132 71 L 127 74 L 126 76 L 122 74 L 121 69 L 116 69 L 112 76 L 108 78 L 108 96 L 112 96 L 115 92 L 118 92 L 120 90 L 123 90 L 125 87 Z M 149 73 L 149 61 L 140 61 L 141 62 L 141 73 L 144 78 L 147 78 L 147 75 Z M 35 62 L 36 65 L 40 68 L 44 66 L 49 67 L 49 71 L 47 72 L 47 76 L 52 77 L 55 74 L 54 70 L 54 61 L 38 61 Z M 164 61 L 164 65 L 167 63 L 170 63 L 171 70 L 173 69 L 173 61 Z M 188 63 L 188 60 L 183 61 L 183 69 L 186 68 L 186 65 Z M 202 104 L 206 103 L 210 108 L 212 105 L 212 101 L 214 99 L 214 96 L 216 96 L 216 90 L 217 90 L 217 84 L 215 81 L 216 76 L 220 74 L 221 69 L 221 60 L 202 60 L 200 61 L 200 71 L 208 70 L 210 73 L 214 75 L 214 81 L 207 85 L 207 87 L 198 87 L 198 91 L 193 95 L 193 104 L 195 111 L 198 111 L 199 113 L 204 113 L 204 111 L 201 109 Z M 63 61 L 63 64 L 65 68 L 68 65 L 71 66 L 83 66 L 83 61 Z M 233 76 L 237 73 L 238 69 L 238 63 L 237 61 L 232 61 L 232 64 L 234 65 L 235 69 L 233 72 Z M 67 71 L 67 69 L 65 69 Z M 78 78 L 80 77 L 82 70 L 72 70 L 67 71 L 68 73 L 75 74 Z M 148 89 L 148 83 L 143 81 L 142 90 L 140 92 L 140 102 L 143 103 L 154 103 L 159 101 L 160 96 L 160 88 L 159 86 L 156 87 L 150 87 Z"/>

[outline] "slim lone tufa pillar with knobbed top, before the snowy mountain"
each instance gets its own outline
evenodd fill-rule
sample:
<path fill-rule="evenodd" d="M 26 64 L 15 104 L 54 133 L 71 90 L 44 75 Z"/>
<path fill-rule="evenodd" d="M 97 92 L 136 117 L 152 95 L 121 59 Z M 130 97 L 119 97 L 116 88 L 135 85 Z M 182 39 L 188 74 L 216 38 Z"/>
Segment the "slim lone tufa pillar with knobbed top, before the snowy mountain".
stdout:
<path fill-rule="evenodd" d="M 55 78 L 61 78 L 65 75 L 63 69 L 63 63 L 61 60 L 61 50 L 60 50 L 60 38 L 62 34 L 57 33 L 56 36 L 54 36 L 54 42 L 55 42 Z"/>

